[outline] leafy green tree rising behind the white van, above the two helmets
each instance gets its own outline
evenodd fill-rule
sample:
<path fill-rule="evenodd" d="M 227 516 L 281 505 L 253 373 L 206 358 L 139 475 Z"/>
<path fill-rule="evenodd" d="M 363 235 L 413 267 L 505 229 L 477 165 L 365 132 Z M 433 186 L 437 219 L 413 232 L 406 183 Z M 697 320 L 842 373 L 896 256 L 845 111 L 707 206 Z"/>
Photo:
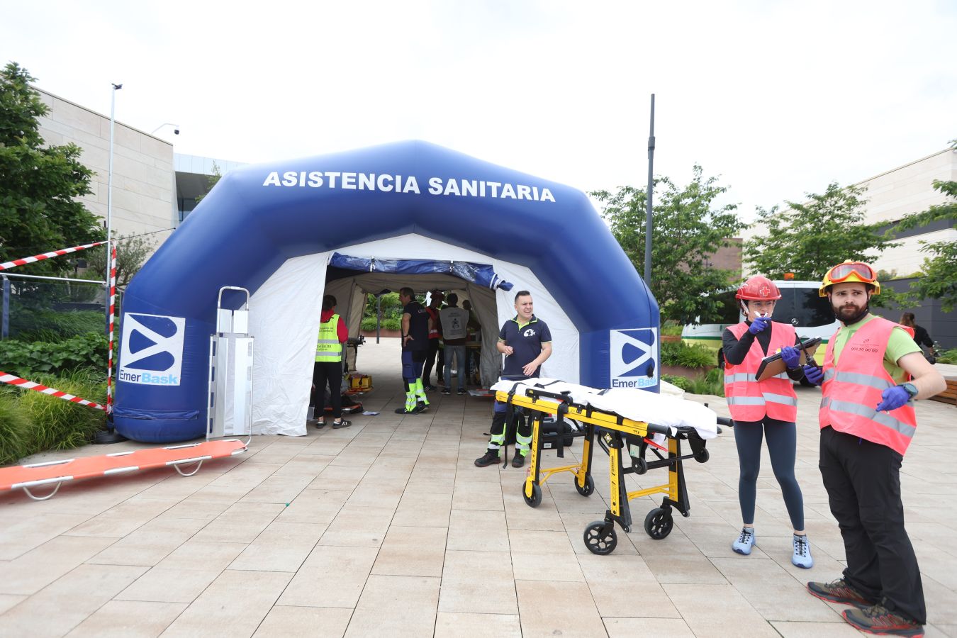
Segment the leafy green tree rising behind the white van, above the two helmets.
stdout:
<path fill-rule="evenodd" d="M 821 279 L 845 259 L 872 262 L 884 249 L 897 244 L 879 232 L 879 224 L 865 224 L 864 189 L 829 184 L 822 194 L 808 193 L 804 204 L 788 202 L 789 209 L 758 209 L 758 223 L 767 235 L 745 242 L 745 260 L 752 270 L 772 279 L 793 273 L 797 279 Z"/>

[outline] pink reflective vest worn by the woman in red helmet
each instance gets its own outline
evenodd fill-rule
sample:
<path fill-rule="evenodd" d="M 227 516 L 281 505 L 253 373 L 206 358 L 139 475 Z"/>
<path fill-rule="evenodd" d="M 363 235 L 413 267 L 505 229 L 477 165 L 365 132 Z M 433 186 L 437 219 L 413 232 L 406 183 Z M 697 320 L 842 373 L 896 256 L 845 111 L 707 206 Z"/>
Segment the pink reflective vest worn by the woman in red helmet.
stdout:
<path fill-rule="evenodd" d="M 776 321 L 771 321 L 770 326 L 769 354 L 794 344 L 793 326 Z M 737 323 L 728 330 L 740 340 L 747 332 L 747 324 Z M 782 372 L 764 381 L 757 380 L 758 367 L 764 357 L 761 344 L 755 340 L 747 351 L 745 361 L 738 365 L 725 363 L 724 395 L 731 418 L 735 421 L 754 422 L 768 416 L 778 421 L 796 421 L 797 395 L 788 374 Z"/>

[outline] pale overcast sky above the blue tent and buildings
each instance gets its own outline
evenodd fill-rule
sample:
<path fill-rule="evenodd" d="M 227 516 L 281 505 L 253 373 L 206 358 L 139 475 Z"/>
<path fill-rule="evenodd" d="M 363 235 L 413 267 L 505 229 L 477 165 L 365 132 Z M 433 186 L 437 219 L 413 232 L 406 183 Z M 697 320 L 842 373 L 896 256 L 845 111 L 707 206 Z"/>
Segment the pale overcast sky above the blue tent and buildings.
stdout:
<path fill-rule="evenodd" d="M 957 138 L 957 2 L 6 2 L 0 63 L 240 162 L 419 139 L 582 190 L 721 175 L 753 218 Z"/>

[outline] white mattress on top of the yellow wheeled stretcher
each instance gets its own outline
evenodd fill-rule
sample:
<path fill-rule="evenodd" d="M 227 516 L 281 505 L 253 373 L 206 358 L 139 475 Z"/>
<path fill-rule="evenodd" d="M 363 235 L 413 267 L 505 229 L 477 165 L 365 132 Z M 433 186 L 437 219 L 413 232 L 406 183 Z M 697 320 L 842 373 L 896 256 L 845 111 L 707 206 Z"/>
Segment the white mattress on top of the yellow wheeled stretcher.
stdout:
<path fill-rule="evenodd" d="M 718 436 L 718 415 L 710 407 L 675 396 L 666 396 L 631 387 L 612 387 L 599 390 L 587 385 L 567 384 L 557 379 L 527 379 L 503 381 L 492 385 L 493 390 L 511 392 L 524 396 L 526 388 L 547 392 L 568 391 L 576 404 L 590 405 L 603 412 L 610 412 L 633 421 L 644 421 L 671 429 L 691 427 L 698 430 L 702 439 Z M 674 432 L 673 432 L 674 433 Z"/>

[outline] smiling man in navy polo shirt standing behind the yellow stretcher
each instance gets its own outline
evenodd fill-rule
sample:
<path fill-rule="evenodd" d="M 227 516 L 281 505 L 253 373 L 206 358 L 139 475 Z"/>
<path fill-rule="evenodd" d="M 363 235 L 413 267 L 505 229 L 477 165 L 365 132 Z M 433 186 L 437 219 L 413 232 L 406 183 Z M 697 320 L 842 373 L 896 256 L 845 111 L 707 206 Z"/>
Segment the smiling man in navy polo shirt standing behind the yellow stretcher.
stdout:
<path fill-rule="evenodd" d="M 520 290 L 515 295 L 516 315 L 505 321 L 499 332 L 498 348 L 505 355 L 502 377 L 520 380 L 538 377 L 542 363 L 551 356 L 551 332 L 545 321 L 532 313 L 532 295 Z M 505 404 L 495 402 L 495 415 L 492 417 L 492 436 L 485 455 L 476 459 L 476 465 L 484 468 L 499 463 L 499 449 L 505 444 Z M 513 468 L 521 468 L 528 455 L 532 440 L 531 424 L 523 419 L 515 433 L 515 458 Z"/>

